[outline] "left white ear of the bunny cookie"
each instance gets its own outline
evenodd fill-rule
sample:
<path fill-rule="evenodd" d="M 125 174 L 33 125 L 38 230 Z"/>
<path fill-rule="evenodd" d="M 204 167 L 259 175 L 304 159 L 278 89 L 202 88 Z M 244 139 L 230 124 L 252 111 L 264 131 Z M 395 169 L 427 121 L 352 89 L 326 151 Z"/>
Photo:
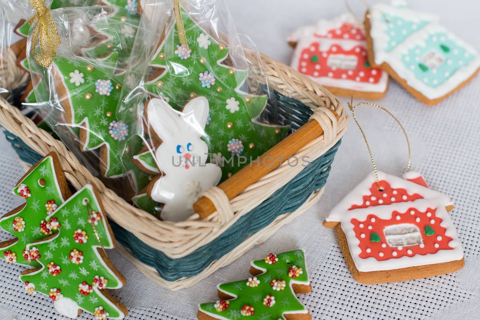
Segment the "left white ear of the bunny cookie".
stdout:
<path fill-rule="evenodd" d="M 179 114 L 163 99 L 154 98 L 146 106 L 148 123 L 158 138 L 166 141 L 180 130 Z"/>

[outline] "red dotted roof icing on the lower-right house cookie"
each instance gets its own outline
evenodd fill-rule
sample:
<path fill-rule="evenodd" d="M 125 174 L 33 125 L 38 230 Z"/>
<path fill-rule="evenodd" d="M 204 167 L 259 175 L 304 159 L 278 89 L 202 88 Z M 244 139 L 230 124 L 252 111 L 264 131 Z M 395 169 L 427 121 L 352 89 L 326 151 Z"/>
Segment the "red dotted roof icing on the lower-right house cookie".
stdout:
<path fill-rule="evenodd" d="M 407 190 L 403 188 L 393 189 L 385 180 L 380 180 L 380 188 L 381 190 L 378 190 L 377 182 L 372 183 L 372 187 L 369 189 L 370 194 L 363 196 L 363 203 L 353 204 L 348 210 L 423 199 L 418 193 L 408 194 Z"/>

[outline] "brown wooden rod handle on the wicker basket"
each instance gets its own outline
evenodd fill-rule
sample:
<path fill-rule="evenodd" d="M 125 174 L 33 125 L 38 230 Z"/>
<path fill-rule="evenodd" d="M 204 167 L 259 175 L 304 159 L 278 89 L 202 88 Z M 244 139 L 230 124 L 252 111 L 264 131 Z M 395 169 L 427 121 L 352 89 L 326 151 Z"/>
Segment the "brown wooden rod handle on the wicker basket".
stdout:
<path fill-rule="evenodd" d="M 338 114 L 332 109 L 328 110 L 335 115 L 335 118 L 338 121 Z M 330 120 L 330 122 L 332 121 Z M 243 190 L 247 189 L 264 175 L 279 166 L 281 159 L 286 159 L 294 155 L 301 148 L 321 136 L 323 133 L 324 130 L 318 121 L 311 118 L 307 123 L 301 126 L 299 130 L 294 131 L 287 138 L 278 142 L 270 150 L 262 154 L 258 160 L 258 166 L 244 166 L 239 172 L 219 184 L 217 187 L 225 192 L 228 200 L 232 200 Z M 273 163 L 271 163 L 271 159 L 269 160 L 267 158 L 273 158 Z M 216 211 L 215 205 L 207 197 L 201 197 L 193 203 L 193 209 L 202 219 Z"/>

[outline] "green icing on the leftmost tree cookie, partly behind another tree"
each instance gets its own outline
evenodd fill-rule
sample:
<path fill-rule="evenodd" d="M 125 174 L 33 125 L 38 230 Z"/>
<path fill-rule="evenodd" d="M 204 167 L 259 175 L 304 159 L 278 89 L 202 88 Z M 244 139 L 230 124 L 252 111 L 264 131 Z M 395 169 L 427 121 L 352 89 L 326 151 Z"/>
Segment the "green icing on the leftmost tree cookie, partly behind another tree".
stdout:
<path fill-rule="evenodd" d="M 39 179 L 45 180 L 45 186 L 42 187 L 40 185 Z M 8 243 L 11 242 L 11 240 L 0 243 L 0 250 L 3 256 L 8 250 L 15 253 L 17 257 L 16 263 L 18 264 L 38 268 L 40 264 L 37 261 L 31 260 L 31 262 L 28 262 L 28 260 L 24 260 L 23 254 L 28 243 L 47 237 L 47 235 L 44 235 L 40 230 L 40 222 L 47 220 L 48 212 L 45 207 L 47 201 L 54 200 L 57 205 L 63 202 L 62 193 L 57 183 L 53 157 L 48 156 L 42 159 L 33 167 L 32 171 L 26 177 L 20 180 L 13 189 L 13 193 L 17 196 L 20 196 L 18 186 L 21 184 L 25 184 L 28 187 L 31 196 L 25 198 L 26 203 L 19 207 L 23 207 L 19 212 L 12 215 L 7 213 L 0 219 L 0 228 L 16 236 L 18 240 L 10 245 Z M 18 208 L 15 210 L 18 210 Z M 24 231 L 14 231 L 13 221 L 16 217 L 24 219 Z M 63 223 L 64 218 L 65 216 L 60 217 L 60 225 Z M 68 218 L 65 220 L 68 220 Z M 54 233 L 58 232 L 58 230 L 52 231 Z"/>

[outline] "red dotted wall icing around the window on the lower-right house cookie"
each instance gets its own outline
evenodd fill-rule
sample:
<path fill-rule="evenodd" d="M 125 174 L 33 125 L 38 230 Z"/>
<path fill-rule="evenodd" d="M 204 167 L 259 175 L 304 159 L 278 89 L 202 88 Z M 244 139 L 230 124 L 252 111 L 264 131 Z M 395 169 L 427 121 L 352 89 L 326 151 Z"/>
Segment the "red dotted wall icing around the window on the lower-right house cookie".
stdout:
<path fill-rule="evenodd" d="M 442 219 L 436 217 L 435 212 L 436 209 L 431 208 L 423 212 L 409 208 L 403 213 L 394 211 L 388 220 L 373 214 L 364 221 L 351 219 L 355 236 L 360 240 L 359 257 L 383 261 L 453 249 L 448 245 L 452 238 L 445 236 L 446 229 L 440 225 Z"/>

